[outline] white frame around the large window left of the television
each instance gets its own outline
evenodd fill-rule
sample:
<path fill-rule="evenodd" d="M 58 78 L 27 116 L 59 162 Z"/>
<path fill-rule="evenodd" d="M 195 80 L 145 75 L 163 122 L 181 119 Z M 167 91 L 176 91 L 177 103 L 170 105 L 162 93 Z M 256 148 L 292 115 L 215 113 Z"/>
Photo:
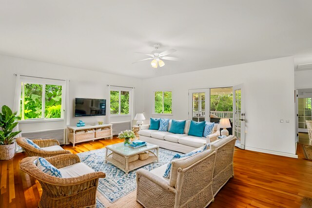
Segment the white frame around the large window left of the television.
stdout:
<path fill-rule="evenodd" d="M 21 89 L 21 83 L 23 83 L 23 88 Z M 22 91 L 24 90 L 24 84 L 39 84 L 42 85 L 42 113 L 41 118 L 29 118 L 26 120 L 19 120 L 19 123 L 37 123 L 37 122 L 51 122 L 51 121 L 63 121 L 64 119 L 64 112 L 65 112 L 65 97 L 66 97 L 66 81 L 65 80 L 59 80 L 59 79 L 49 79 L 49 78 L 40 78 L 40 77 L 32 77 L 32 76 L 20 76 L 20 85 L 17 89 L 17 97 L 18 103 L 20 103 L 20 100 L 24 98 L 24 94 L 22 94 L 22 98 L 20 97 Z M 61 112 L 60 112 L 60 118 L 44 118 L 44 109 L 45 109 L 45 85 L 58 85 L 62 86 L 62 102 L 61 102 Z M 18 105 L 18 111 L 17 115 L 20 116 L 20 107 L 21 105 Z"/>

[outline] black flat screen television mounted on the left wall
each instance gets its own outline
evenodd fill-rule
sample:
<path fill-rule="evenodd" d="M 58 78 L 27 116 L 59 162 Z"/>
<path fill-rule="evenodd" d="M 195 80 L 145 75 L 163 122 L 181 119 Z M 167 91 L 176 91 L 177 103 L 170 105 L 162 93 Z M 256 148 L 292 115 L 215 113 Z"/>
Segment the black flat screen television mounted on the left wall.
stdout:
<path fill-rule="evenodd" d="M 75 117 L 96 115 L 106 115 L 106 99 L 75 99 Z"/>

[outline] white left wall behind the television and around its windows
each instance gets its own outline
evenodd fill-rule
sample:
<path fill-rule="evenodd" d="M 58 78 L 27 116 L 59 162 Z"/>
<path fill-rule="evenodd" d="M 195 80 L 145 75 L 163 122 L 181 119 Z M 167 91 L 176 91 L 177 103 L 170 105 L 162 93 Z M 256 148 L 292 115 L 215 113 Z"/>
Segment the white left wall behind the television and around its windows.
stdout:
<path fill-rule="evenodd" d="M 74 117 L 75 97 L 109 99 L 106 85 L 121 85 L 135 87 L 136 112 L 143 109 L 142 80 L 138 78 L 106 74 L 91 70 L 61 66 L 39 61 L 0 55 L 0 106 L 7 105 L 13 109 L 15 99 L 16 76 L 13 74 L 40 76 L 46 78 L 69 79 L 70 125 L 76 125 L 79 118 Z M 109 109 L 106 110 L 106 114 Z M 135 112 L 135 113 L 136 113 Z M 106 122 L 107 116 L 80 117 L 86 124 L 95 124 L 97 121 Z M 113 121 L 123 118 L 114 117 Z M 65 121 L 20 123 L 20 130 L 24 132 L 45 129 L 64 128 Z"/>

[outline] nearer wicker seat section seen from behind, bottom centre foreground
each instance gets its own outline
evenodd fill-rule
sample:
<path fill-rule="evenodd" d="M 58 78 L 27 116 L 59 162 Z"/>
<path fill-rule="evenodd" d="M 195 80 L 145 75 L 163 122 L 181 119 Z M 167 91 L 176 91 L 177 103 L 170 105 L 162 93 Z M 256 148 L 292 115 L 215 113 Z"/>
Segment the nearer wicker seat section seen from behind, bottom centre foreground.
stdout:
<path fill-rule="evenodd" d="M 170 186 L 170 182 L 152 172 L 137 170 L 137 202 L 145 208 L 205 208 L 208 206 L 214 200 L 212 179 L 215 152 L 207 150 L 182 160 L 177 163 L 180 162 L 180 165 L 187 167 L 177 169 L 175 187 Z M 192 165 L 189 165 L 190 163 Z M 175 170 L 172 169 L 172 171 Z M 173 178 L 172 174 L 170 180 Z"/>

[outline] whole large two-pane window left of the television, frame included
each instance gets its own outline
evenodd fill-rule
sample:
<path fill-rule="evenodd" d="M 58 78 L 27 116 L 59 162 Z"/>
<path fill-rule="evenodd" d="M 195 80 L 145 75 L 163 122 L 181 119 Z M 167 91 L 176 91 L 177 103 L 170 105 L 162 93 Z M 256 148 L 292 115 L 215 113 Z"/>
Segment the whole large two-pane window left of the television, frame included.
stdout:
<path fill-rule="evenodd" d="M 21 76 L 20 84 L 20 120 L 63 119 L 65 81 Z"/>

